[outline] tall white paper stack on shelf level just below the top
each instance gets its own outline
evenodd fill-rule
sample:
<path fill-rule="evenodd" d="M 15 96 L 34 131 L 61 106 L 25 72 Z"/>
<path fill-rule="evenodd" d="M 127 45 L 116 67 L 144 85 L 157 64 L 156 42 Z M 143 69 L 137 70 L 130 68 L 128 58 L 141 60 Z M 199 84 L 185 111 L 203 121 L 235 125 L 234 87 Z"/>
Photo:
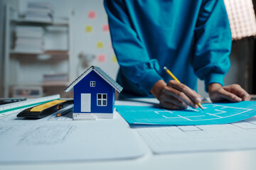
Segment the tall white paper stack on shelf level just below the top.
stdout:
<path fill-rule="evenodd" d="M 16 52 L 43 52 L 43 28 L 39 26 L 16 26 Z"/>

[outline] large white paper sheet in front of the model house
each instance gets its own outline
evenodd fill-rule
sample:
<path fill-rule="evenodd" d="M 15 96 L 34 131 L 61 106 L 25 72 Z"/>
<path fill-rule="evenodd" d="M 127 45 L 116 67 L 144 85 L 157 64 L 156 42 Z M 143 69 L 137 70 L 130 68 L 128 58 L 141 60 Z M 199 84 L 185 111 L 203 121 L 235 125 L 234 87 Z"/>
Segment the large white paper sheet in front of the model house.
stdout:
<path fill-rule="evenodd" d="M 0 163 L 132 159 L 144 155 L 129 125 L 114 119 L 72 120 L 72 114 L 41 120 L 0 118 Z"/>

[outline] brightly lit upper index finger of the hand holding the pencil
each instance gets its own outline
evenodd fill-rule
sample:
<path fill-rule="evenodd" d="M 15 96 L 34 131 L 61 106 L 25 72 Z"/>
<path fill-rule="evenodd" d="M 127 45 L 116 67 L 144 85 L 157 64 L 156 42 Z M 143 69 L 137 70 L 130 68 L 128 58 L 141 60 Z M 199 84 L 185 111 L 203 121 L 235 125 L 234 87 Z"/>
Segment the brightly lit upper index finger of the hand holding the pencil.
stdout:
<path fill-rule="evenodd" d="M 195 103 L 200 103 L 201 102 L 201 96 L 198 95 L 196 93 L 196 91 L 193 91 L 192 89 L 190 89 L 185 84 L 178 83 L 177 81 L 169 81 L 167 86 L 171 86 L 174 89 L 177 89 L 178 91 L 183 92 L 183 94 L 185 94 L 185 96 L 187 96 L 189 98 L 188 100 L 186 100 L 186 101 L 189 102 L 188 103 L 189 106 L 194 106 Z M 183 97 L 182 94 L 181 94 L 181 97 Z M 184 101 L 184 102 L 186 103 L 186 101 Z M 192 101 L 192 103 L 191 103 L 191 101 Z"/>

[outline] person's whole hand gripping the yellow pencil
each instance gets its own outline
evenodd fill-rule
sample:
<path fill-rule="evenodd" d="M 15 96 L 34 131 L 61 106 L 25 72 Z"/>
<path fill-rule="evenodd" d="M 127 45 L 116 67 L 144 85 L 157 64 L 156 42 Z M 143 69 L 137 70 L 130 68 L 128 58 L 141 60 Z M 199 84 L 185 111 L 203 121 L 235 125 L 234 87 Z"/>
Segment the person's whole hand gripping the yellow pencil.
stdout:
<path fill-rule="evenodd" d="M 191 106 L 198 108 L 196 103 L 201 102 L 201 96 L 188 86 L 171 80 L 166 84 L 163 80 L 159 80 L 151 89 L 153 94 L 163 108 L 171 110 L 181 110 Z"/>

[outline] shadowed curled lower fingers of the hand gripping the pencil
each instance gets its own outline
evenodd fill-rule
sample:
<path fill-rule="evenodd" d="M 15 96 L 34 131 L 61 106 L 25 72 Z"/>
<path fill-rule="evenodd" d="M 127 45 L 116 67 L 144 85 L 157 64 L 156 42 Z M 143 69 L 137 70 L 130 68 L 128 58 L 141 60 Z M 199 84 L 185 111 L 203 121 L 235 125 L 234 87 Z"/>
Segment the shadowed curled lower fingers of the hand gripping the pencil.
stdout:
<path fill-rule="evenodd" d="M 160 101 L 162 102 L 162 106 L 166 106 L 165 108 L 171 108 L 175 110 L 188 108 L 186 103 L 166 93 L 160 96 Z"/>

